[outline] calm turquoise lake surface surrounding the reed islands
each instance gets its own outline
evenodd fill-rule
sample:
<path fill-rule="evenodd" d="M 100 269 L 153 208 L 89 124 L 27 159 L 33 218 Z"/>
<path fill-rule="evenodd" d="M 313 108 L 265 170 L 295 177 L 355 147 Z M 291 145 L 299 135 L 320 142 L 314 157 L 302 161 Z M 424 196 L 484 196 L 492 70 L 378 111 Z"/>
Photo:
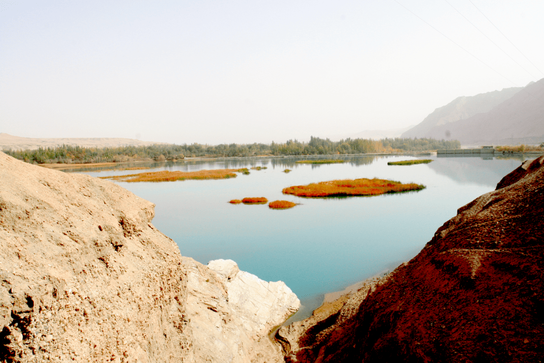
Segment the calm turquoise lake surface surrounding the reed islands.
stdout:
<path fill-rule="evenodd" d="M 182 255 L 202 264 L 232 259 L 240 270 L 263 280 L 285 281 L 304 305 L 298 314 L 304 318 L 320 305 L 324 293 L 343 290 L 410 260 L 438 227 L 455 216 L 458 208 L 494 190 L 502 177 L 525 160 L 357 155 L 332 157 L 346 160 L 343 164 L 295 164 L 297 160 L 323 158 L 138 163 L 134 165 L 150 166 L 149 171 L 256 166 L 267 169 L 250 170 L 249 175 L 237 173 L 236 178 L 222 180 L 118 184 L 156 204 L 154 226 L 176 241 Z M 434 161 L 387 165 L 388 161 L 410 159 Z M 284 173 L 286 168 L 292 171 Z M 83 172 L 109 176 L 141 171 Z M 375 177 L 423 184 L 426 189 L 374 197 L 313 199 L 281 192 L 292 185 Z M 228 203 L 245 197 L 283 199 L 300 205 L 271 210 L 266 204 Z"/>

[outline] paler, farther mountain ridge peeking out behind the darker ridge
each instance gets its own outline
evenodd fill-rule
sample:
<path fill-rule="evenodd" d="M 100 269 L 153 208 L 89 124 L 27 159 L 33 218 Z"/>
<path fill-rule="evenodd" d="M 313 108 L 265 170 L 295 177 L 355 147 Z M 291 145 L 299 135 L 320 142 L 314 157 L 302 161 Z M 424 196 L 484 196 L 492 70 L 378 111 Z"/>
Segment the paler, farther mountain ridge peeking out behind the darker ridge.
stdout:
<path fill-rule="evenodd" d="M 532 83 L 532 82 L 531 82 Z M 446 135 L 430 136 L 432 129 L 444 124 L 465 120 L 474 115 L 489 112 L 491 109 L 514 96 L 523 87 L 504 88 L 500 91 L 479 93 L 475 96 L 460 96 L 445 106 L 435 109 L 429 116 L 415 127 L 404 132 L 401 137 L 435 137 L 448 139 Z M 453 137 L 456 139 L 456 137 Z M 461 141 L 462 142 L 462 141 Z"/>

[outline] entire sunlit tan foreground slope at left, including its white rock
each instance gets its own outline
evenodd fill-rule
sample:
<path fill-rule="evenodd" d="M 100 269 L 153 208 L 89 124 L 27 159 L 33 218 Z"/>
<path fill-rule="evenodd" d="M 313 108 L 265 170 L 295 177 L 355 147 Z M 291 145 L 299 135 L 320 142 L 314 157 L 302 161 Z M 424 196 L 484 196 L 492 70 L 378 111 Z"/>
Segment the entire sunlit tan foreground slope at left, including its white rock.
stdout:
<path fill-rule="evenodd" d="M 296 296 L 182 258 L 153 215 L 111 182 L 0 153 L 0 361 L 282 361 L 268 332 Z"/>

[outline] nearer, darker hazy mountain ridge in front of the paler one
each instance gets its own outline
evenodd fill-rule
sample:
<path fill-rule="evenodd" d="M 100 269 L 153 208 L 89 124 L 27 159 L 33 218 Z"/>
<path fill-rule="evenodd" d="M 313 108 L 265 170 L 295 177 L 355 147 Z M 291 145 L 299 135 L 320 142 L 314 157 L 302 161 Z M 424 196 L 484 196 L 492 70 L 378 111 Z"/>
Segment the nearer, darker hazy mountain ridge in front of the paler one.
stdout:
<path fill-rule="evenodd" d="M 489 112 L 434 126 L 424 136 L 459 140 L 465 145 L 540 143 L 544 141 L 544 78 Z"/>

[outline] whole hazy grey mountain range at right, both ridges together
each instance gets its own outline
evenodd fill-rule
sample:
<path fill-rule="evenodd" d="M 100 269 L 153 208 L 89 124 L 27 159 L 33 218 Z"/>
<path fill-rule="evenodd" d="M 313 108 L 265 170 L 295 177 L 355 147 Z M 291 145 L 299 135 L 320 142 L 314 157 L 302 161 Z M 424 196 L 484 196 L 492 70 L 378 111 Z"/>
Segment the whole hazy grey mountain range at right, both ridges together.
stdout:
<path fill-rule="evenodd" d="M 544 79 L 525 87 L 458 97 L 401 137 L 459 140 L 464 145 L 544 141 Z"/>

